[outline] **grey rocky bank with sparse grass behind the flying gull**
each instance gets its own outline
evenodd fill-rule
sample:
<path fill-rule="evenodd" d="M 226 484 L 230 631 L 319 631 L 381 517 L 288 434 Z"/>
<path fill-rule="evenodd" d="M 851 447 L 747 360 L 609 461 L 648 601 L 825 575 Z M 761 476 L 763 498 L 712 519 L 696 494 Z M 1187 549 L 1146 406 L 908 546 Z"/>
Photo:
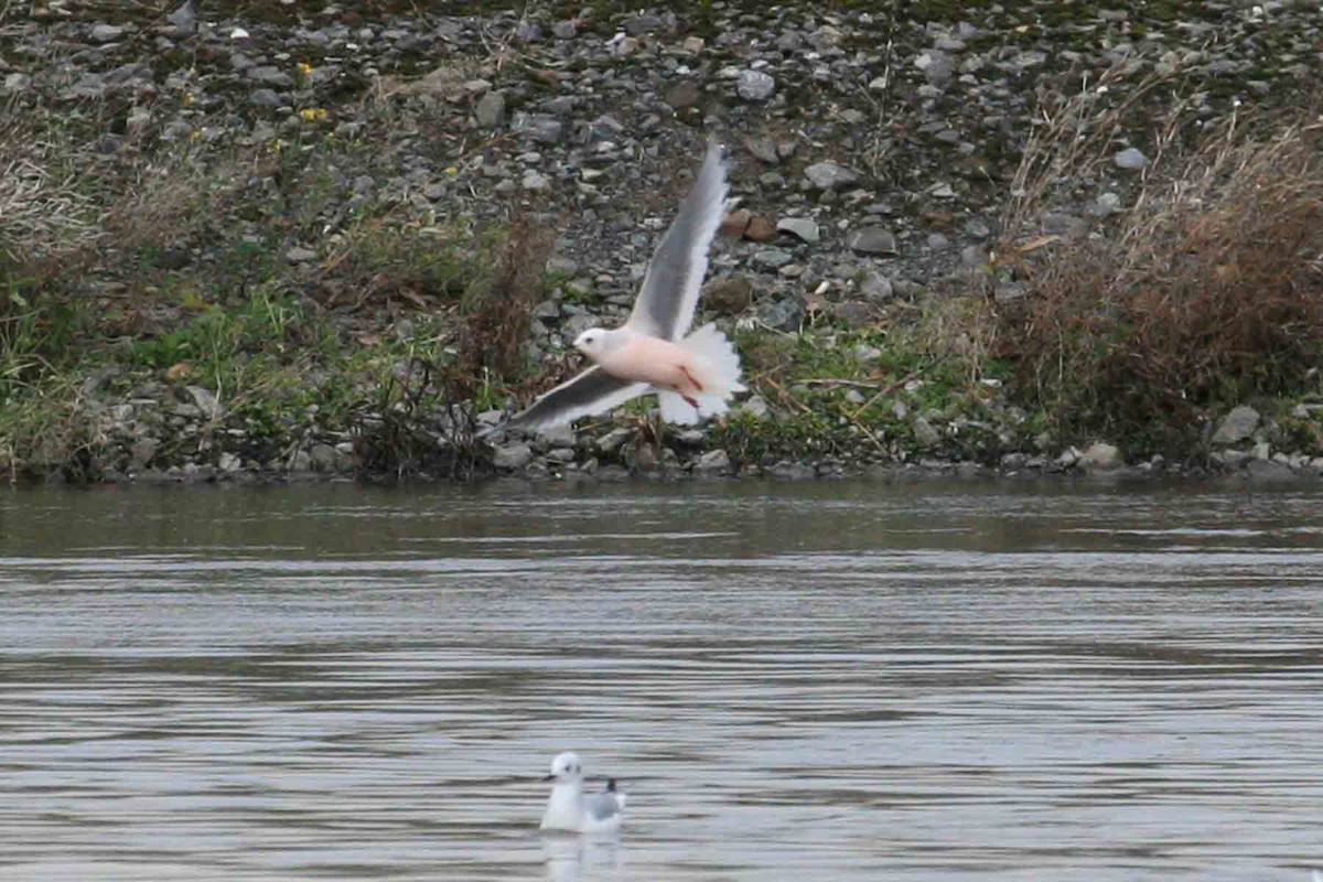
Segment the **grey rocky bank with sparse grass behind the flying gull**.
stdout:
<path fill-rule="evenodd" d="M 1024 296 L 1013 272 L 991 268 L 1008 237 L 1106 235 L 1156 157 L 1171 94 L 1179 91 L 1197 127 L 1315 91 L 1323 66 L 1316 3 L 713 1 L 684 11 L 550 3 L 503 11 L 217 1 L 152 11 L 50 0 L 30 15 L 22 5 L 0 20 L 7 112 L 42 124 L 61 119 L 71 155 L 101 180 L 131 169 L 152 198 L 130 214 L 155 212 L 161 223 L 135 239 L 123 233 L 132 229 L 123 213 L 118 227 L 102 222 L 115 216 L 110 205 L 61 234 L 94 255 L 79 270 L 78 301 L 134 315 L 106 335 L 119 341 L 107 344 L 108 354 L 69 365 L 78 372 L 69 383 L 77 427 L 61 431 L 77 435 L 77 456 L 69 458 L 69 443 L 44 451 L 30 438 L 15 440 L 15 430 L 0 452 L 12 475 L 1226 468 L 1271 480 L 1323 471 L 1323 450 L 1301 431 L 1323 410 L 1308 395 L 1278 410 L 1256 402 L 1259 409 L 1209 413 L 1195 452 L 1062 438 L 1008 393 L 1004 364 L 971 356 L 976 335 L 951 327 L 966 313 L 942 305 L 960 295 L 994 307 Z M 1135 99 L 1144 82 L 1148 91 Z M 1007 229 L 1021 155 L 1044 107 L 1081 91 L 1114 114 L 1107 161 L 1056 181 L 1029 226 Z M 407 249 L 372 239 L 389 251 L 381 272 L 348 274 L 356 261 L 369 266 L 368 221 L 430 231 L 427 242 L 447 259 L 479 263 L 491 259 L 478 243 L 484 230 L 505 229 L 515 213 L 554 230 L 538 258 L 546 272 L 523 352 L 531 365 L 564 366 L 578 332 L 627 313 L 706 132 L 720 134 L 734 159 L 736 204 L 703 305 L 741 345 L 751 377 L 753 394 L 730 421 L 659 432 L 634 411 L 578 431 L 497 434 L 487 447 L 459 423 L 497 423 L 516 405 L 507 387 L 464 402 L 443 401 L 438 390 L 374 395 L 382 377 L 430 389 L 418 365 L 423 354 L 454 352 L 447 321 L 459 307 L 446 299 L 452 280 L 426 284 L 430 264 L 426 272 L 409 264 L 423 279 L 411 288 L 381 280 L 392 261 L 414 259 Z M 28 193 L 48 214 L 60 205 L 38 196 L 56 192 L 61 173 L 81 173 L 61 172 L 49 151 L 42 164 L 11 145 L 8 159 L 0 196 L 21 208 Z M 175 188 L 184 196 L 172 181 L 187 184 Z M 160 214 L 172 192 L 183 205 Z M 210 201 L 194 200 L 198 193 Z M 70 218 L 85 205 L 66 206 Z M 0 230 L 13 242 L 37 241 L 40 225 L 20 221 L 15 209 Z M 267 279 L 279 280 L 279 296 L 253 300 Z M 228 373 L 234 382 L 226 385 L 201 369 L 193 336 L 180 337 L 177 358 L 156 345 L 181 329 L 192 335 L 198 316 L 217 309 L 253 324 L 263 308 L 262 321 L 275 323 L 274 309 L 292 316 L 263 339 L 263 354 L 329 346 L 288 329 L 315 316 L 318 333 L 336 340 L 335 357 L 277 357 L 283 373 L 235 394 L 243 378 Z M 385 368 L 369 370 L 356 352 L 376 353 Z M 250 354 L 239 346 L 226 370 L 238 360 L 255 372 Z M 341 381 L 352 389 L 332 401 L 328 390 Z M 287 389 L 300 385 L 323 397 Z M 267 401 L 263 389 L 283 391 Z M 21 394 L 11 397 L 7 406 L 17 407 Z M 349 403 L 332 406 L 341 401 Z M 392 431 L 407 432 L 407 463 L 370 450 Z"/>

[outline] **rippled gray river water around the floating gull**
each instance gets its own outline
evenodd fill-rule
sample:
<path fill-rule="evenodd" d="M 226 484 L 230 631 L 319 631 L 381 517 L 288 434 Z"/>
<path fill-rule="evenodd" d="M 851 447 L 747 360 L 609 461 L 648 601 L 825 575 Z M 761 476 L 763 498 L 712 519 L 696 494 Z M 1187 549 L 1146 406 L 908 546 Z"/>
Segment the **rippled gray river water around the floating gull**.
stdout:
<path fill-rule="evenodd" d="M 5 492 L 0 878 L 1310 882 L 1320 645 L 1301 489 Z"/>

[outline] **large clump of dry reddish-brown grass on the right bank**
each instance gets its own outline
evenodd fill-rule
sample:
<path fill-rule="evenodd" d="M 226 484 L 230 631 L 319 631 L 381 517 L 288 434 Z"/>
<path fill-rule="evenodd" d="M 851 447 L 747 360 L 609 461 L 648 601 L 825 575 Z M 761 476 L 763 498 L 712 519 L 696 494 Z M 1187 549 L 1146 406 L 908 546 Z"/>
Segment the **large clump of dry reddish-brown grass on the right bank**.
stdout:
<path fill-rule="evenodd" d="M 1019 261 L 1027 296 L 998 323 L 1031 403 L 1170 446 L 1209 409 L 1298 389 L 1323 353 L 1320 132 L 1230 119 L 1181 148 L 1170 122 L 1114 230 Z"/>

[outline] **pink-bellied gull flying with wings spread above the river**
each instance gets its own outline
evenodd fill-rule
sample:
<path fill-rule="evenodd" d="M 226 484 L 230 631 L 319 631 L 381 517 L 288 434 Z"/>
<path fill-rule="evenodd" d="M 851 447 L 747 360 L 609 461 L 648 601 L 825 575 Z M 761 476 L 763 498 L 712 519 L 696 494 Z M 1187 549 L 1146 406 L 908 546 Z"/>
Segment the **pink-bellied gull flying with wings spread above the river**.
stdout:
<path fill-rule="evenodd" d="M 512 417 L 507 427 L 568 423 L 651 391 L 671 423 L 693 424 L 726 411 L 730 397 L 745 389 L 740 356 L 712 324 L 689 333 L 725 200 L 725 159 L 721 145 L 709 141 L 693 189 L 652 254 L 628 320 L 610 331 L 581 333 L 574 348 L 595 364 Z"/>

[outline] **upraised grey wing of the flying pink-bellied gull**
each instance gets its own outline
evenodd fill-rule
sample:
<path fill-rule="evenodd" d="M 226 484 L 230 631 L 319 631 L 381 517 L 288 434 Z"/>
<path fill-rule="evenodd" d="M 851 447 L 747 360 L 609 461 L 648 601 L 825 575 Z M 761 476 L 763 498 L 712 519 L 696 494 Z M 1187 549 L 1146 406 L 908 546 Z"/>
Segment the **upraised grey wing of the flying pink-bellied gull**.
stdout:
<path fill-rule="evenodd" d="M 652 254 L 626 327 L 663 340 L 679 340 L 689 331 L 708 272 L 708 247 L 725 217 L 726 165 L 721 153 L 721 144 L 708 141 L 699 177 Z"/>

